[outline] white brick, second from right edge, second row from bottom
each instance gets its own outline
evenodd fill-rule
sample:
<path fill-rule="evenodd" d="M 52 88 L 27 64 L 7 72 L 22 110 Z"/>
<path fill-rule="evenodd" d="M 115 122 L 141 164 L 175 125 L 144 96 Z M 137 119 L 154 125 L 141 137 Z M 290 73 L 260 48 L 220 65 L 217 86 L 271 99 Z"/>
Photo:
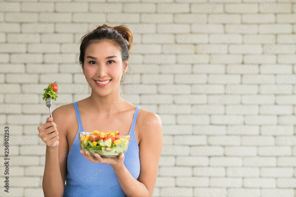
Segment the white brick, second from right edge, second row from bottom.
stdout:
<path fill-rule="evenodd" d="M 244 178 L 244 187 L 275 188 L 276 180 L 273 178 Z"/>

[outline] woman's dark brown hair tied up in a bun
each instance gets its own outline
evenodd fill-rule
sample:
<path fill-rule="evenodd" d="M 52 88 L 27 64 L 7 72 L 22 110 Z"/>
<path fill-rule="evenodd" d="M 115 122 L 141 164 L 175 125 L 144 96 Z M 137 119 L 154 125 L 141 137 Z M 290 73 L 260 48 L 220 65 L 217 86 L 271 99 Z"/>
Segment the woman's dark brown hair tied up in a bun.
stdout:
<path fill-rule="evenodd" d="M 117 46 L 122 57 L 122 62 L 127 61 L 130 57 L 130 49 L 133 45 L 133 33 L 126 25 L 110 26 L 107 23 L 98 26 L 88 34 L 84 35 L 81 39 L 79 63 L 83 65 L 86 47 L 95 42 L 109 41 Z M 128 66 L 129 73 L 130 66 Z M 125 74 L 120 79 L 120 85 L 125 80 Z M 123 90 L 124 91 L 124 90 Z"/>

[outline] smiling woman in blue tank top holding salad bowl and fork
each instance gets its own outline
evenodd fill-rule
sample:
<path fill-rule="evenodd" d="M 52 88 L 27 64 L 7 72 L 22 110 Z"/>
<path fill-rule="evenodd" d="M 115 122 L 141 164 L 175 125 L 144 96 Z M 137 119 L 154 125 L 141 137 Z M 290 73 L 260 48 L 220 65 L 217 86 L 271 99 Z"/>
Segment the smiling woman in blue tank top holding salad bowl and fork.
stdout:
<path fill-rule="evenodd" d="M 44 196 L 152 196 L 162 123 L 155 113 L 120 97 L 132 32 L 125 25 L 104 24 L 81 40 L 79 61 L 91 95 L 55 109 L 52 118 L 38 126 L 46 143 Z M 78 132 L 94 130 L 131 134 L 127 152 L 116 158 L 83 152 Z"/>

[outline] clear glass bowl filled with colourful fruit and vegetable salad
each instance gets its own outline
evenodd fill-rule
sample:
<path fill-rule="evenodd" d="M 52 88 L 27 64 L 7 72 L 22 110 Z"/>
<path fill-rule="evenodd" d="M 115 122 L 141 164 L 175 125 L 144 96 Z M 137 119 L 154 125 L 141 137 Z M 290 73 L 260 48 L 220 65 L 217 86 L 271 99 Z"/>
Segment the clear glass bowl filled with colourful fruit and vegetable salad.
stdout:
<path fill-rule="evenodd" d="M 91 156 L 95 157 L 97 153 L 101 157 L 117 157 L 121 153 L 125 153 L 131 135 L 113 132 L 79 132 L 80 147 L 83 151 L 89 151 Z"/>

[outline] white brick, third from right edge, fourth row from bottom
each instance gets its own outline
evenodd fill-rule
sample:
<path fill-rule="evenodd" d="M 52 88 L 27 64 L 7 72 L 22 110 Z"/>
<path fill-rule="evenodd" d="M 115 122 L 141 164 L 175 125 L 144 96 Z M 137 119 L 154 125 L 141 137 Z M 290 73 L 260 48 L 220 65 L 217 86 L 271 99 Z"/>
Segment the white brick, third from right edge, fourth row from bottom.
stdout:
<path fill-rule="evenodd" d="M 210 166 L 242 166 L 241 157 L 210 157 Z"/>

